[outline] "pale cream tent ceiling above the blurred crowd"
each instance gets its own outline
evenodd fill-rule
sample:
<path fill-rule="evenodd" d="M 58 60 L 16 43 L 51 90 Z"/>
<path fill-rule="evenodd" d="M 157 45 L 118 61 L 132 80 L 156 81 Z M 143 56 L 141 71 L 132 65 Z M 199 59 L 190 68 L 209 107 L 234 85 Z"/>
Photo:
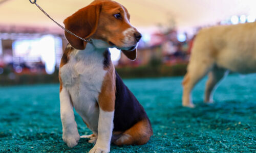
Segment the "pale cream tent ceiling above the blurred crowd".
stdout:
<path fill-rule="evenodd" d="M 0 2 L 3 0 L 0 0 Z M 0 3 L 0 24 L 29 25 L 57 28 L 29 0 L 5 0 Z M 173 18 L 178 28 L 216 23 L 232 15 L 256 15 L 255 0 L 116 0 L 131 14 L 131 23 L 136 27 L 167 25 Z M 62 24 L 62 21 L 91 0 L 37 0 L 47 13 Z"/>

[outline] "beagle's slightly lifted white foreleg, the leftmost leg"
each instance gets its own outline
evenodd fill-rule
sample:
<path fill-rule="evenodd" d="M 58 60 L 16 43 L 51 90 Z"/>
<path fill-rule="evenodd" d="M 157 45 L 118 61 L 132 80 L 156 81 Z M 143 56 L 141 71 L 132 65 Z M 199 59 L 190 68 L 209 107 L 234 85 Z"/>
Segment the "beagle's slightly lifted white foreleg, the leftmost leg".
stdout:
<path fill-rule="evenodd" d="M 62 88 L 60 94 L 60 118 L 62 122 L 62 139 L 69 147 L 77 145 L 80 136 L 77 131 L 73 106 L 70 95 L 65 87 Z"/>

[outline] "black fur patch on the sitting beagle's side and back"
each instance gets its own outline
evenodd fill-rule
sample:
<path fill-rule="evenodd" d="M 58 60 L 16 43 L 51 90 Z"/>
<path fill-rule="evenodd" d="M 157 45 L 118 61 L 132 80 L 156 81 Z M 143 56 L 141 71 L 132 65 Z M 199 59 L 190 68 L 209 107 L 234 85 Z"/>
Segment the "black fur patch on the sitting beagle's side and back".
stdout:
<path fill-rule="evenodd" d="M 144 108 L 133 93 L 124 85 L 116 72 L 116 100 L 114 130 L 126 131 L 142 119 L 148 119 Z"/>

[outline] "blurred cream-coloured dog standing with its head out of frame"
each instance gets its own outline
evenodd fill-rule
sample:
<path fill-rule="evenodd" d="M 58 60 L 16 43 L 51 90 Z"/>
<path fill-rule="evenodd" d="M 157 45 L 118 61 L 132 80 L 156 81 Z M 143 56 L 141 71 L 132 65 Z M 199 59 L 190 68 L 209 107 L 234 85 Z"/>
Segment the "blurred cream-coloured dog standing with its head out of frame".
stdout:
<path fill-rule="evenodd" d="M 256 72 L 256 22 L 219 25 L 201 30 L 194 42 L 183 81 L 182 105 L 194 107 L 190 99 L 193 87 L 207 73 L 205 103 L 212 103 L 212 93 L 227 70 Z"/>

